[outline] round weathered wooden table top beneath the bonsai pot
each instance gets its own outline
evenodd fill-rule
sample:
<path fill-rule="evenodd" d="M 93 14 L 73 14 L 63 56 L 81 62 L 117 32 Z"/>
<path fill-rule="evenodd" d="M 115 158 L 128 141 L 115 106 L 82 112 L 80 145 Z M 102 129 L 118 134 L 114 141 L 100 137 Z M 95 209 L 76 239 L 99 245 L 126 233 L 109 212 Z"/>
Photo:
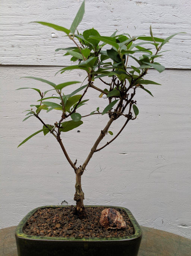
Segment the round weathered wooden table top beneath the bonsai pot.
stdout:
<path fill-rule="evenodd" d="M 17 256 L 15 228 L 0 229 L 0 256 Z M 143 238 L 139 256 L 191 256 L 190 239 L 153 228 L 141 228 Z"/>

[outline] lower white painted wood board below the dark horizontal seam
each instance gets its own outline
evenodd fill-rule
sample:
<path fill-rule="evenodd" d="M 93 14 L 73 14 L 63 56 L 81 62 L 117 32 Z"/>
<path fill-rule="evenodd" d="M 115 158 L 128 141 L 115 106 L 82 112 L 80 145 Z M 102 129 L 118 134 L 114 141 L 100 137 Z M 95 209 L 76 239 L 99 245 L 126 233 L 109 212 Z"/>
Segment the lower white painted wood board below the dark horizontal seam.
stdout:
<path fill-rule="evenodd" d="M 60 83 L 83 81 L 84 73 L 54 74 L 59 67 L 0 67 L 1 80 L 1 179 L 0 228 L 17 225 L 35 207 L 74 204 L 75 174 L 66 161 L 59 144 L 50 134 L 42 133 L 17 149 L 26 137 L 41 129 L 41 123 L 31 117 L 24 123 L 21 113 L 35 103 L 38 93 L 32 90 L 15 91 L 19 87 L 48 85 L 21 76 L 37 76 Z M 137 92 L 140 110 L 115 142 L 95 153 L 82 177 L 85 204 L 119 205 L 129 208 L 141 225 L 190 237 L 190 81 L 189 70 L 166 70 L 159 74 L 151 70 L 148 79 L 162 86 Z M 100 85 L 99 82 L 96 82 Z M 75 89 L 66 87 L 66 93 Z M 51 93 L 49 94 L 51 95 Z M 87 98 L 90 113 L 106 101 L 89 89 Z M 81 112 L 82 110 L 80 110 Z M 82 113 L 82 112 L 81 112 Z M 59 111 L 44 112 L 46 123 L 59 120 Z M 87 157 L 93 142 L 106 123 L 105 116 L 84 118 L 84 124 L 62 134 L 63 143 L 78 165 Z M 118 132 L 124 118 L 110 130 Z M 80 130 L 80 133 L 77 133 Z M 104 142 L 112 136 L 107 135 Z M 103 145 L 103 143 L 101 143 Z"/>

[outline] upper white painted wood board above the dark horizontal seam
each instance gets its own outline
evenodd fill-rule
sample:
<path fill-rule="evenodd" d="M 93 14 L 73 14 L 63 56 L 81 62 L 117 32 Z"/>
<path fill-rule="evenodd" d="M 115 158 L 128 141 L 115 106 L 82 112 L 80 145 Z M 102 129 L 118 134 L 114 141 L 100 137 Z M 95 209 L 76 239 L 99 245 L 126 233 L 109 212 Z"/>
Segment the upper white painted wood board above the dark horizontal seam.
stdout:
<path fill-rule="evenodd" d="M 68 65 L 56 48 L 71 46 L 64 34 L 31 21 L 47 21 L 69 28 L 81 4 L 76 0 L 3 0 L 1 10 L 1 64 Z M 179 34 L 164 47 L 161 63 L 167 68 L 191 67 L 191 1 L 189 0 L 86 0 L 85 15 L 79 31 L 94 27 L 102 35 L 116 29 L 131 35 L 149 35 L 152 25 L 155 36 L 166 38 Z M 55 32 L 57 37 L 52 37 Z"/>

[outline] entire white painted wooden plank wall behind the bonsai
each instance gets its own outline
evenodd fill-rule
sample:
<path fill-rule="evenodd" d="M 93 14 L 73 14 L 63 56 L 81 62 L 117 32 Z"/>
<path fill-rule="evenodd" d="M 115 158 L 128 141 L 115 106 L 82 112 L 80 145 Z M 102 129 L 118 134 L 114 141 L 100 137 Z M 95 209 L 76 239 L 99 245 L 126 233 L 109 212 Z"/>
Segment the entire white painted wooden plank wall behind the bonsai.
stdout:
<path fill-rule="evenodd" d="M 47 86 L 20 79 L 36 76 L 60 83 L 83 81 L 85 74 L 73 71 L 54 74 L 69 58 L 56 48 L 71 46 L 62 32 L 52 37 L 51 28 L 30 21 L 40 20 L 69 27 L 81 4 L 71 0 L 1 1 L 1 193 L 0 228 L 18 224 L 32 208 L 40 205 L 74 204 L 75 175 L 51 135 L 38 134 L 22 147 L 17 145 L 41 129 L 35 118 L 22 123 L 29 105 L 38 99 L 35 91 L 15 91 L 19 87 Z M 154 98 L 144 91 L 137 93 L 140 114 L 131 121 L 119 138 L 93 156 L 82 184 L 85 204 L 120 205 L 129 208 L 141 225 L 190 237 L 190 96 L 191 96 L 191 2 L 188 0 L 87 0 L 85 16 L 79 30 L 94 27 L 101 34 L 116 29 L 132 35 L 155 36 L 179 34 L 165 49 L 161 59 L 167 69 L 159 74 L 150 70 L 148 79 L 162 86 L 149 85 Z M 98 85 L 100 85 L 98 83 Z M 100 85 L 101 86 L 101 85 Z M 73 87 L 75 88 L 75 87 Z M 72 89 L 73 89 L 72 88 Z M 71 88 L 66 88 L 66 93 Z M 51 95 L 51 93 L 50 93 Z M 90 99 L 87 114 L 95 106 L 103 109 L 104 99 L 96 91 Z M 43 114 L 47 123 L 59 120 L 57 111 Z M 84 119 L 84 125 L 63 135 L 72 160 L 78 164 L 87 156 L 96 136 L 106 122 L 105 116 Z M 112 125 L 116 134 L 124 123 Z M 108 141 L 110 135 L 104 140 Z"/>

